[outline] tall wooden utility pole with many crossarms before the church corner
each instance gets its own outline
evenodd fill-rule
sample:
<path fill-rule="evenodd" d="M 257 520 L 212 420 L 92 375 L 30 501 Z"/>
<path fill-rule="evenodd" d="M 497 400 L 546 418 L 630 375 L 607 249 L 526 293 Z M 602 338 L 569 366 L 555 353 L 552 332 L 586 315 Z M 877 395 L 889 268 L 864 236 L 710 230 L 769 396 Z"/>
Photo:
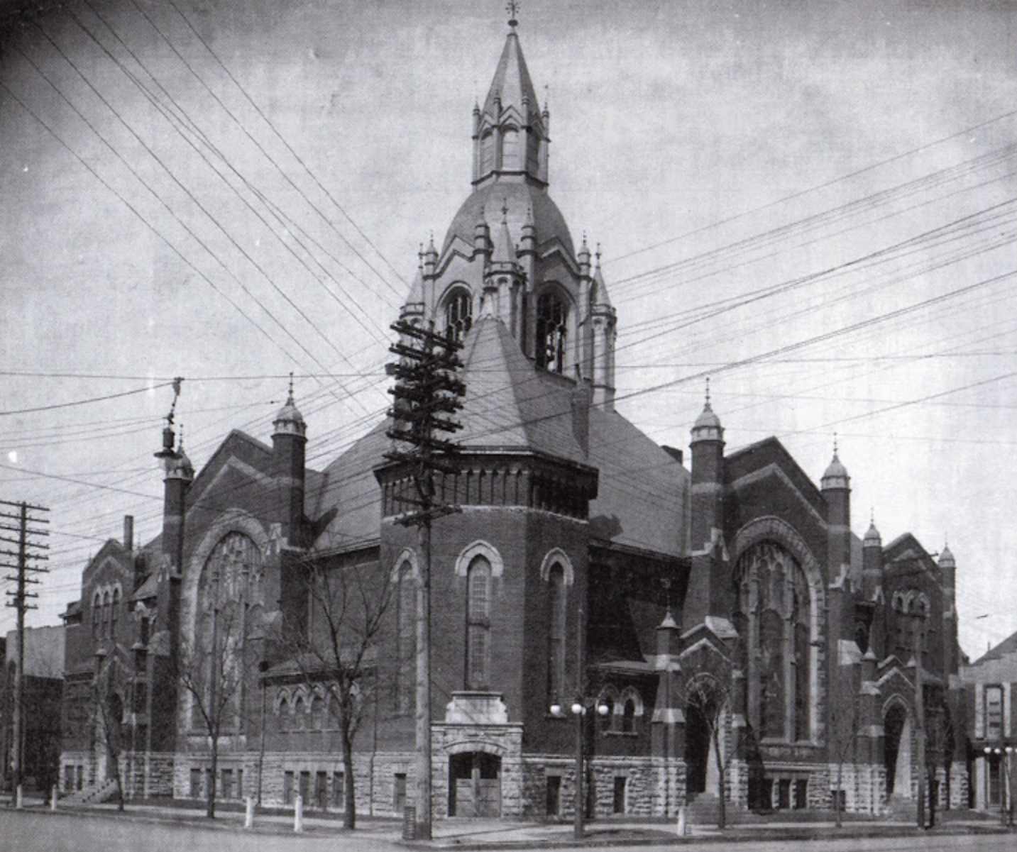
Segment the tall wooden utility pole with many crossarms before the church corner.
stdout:
<path fill-rule="evenodd" d="M 387 435 L 394 441 L 410 444 L 409 450 L 393 449 L 385 453 L 391 462 L 406 465 L 412 471 L 415 496 L 403 495 L 398 500 L 415 510 L 398 523 L 417 528 L 419 572 L 417 579 L 417 707 L 414 716 L 417 752 L 416 807 L 414 826 L 416 840 L 431 839 L 431 524 L 436 518 L 458 511 L 458 507 L 442 505 L 434 499 L 434 472 L 455 473 L 447 463 L 435 457 L 448 457 L 458 450 L 456 443 L 435 437 L 435 433 L 453 433 L 462 424 L 452 419 L 463 407 L 466 386 L 456 377 L 463 364 L 456 354 L 462 344 L 450 336 L 409 322 L 396 322 L 392 329 L 400 342 L 388 351 L 399 361 L 388 364 L 386 372 L 396 377 L 390 393 L 396 402 L 388 412 L 395 426 Z"/>

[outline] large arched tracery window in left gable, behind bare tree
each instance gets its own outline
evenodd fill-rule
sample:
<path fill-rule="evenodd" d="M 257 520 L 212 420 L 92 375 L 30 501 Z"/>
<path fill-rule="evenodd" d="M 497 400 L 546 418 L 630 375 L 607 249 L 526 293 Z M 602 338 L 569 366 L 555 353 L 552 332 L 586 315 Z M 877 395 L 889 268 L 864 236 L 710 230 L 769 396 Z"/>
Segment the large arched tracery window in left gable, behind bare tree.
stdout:
<path fill-rule="evenodd" d="M 213 548 L 198 580 L 194 651 L 188 665 L 195 681 L 204 684 L 206 707 L 225 704 L 224 719 L 232 729 L 240 723 L 245 677 L 253 653 L 250 641 L 260 632 L 263 611 L 263 566 L 257 545 L 243 533 L 227 533 Z M 200 724 L 194 696 L 192 721 Z"/>

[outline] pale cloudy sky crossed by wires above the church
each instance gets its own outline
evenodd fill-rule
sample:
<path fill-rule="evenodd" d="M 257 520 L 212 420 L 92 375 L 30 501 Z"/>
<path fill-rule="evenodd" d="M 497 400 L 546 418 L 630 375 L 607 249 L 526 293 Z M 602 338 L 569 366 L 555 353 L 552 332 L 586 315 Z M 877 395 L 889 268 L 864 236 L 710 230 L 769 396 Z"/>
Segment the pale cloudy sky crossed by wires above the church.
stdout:
<path fill-rule="evenodd" d="M 949 542 L 972 658 L 1017 630 L 1015 12 L 519 11 L 618 410 L 687 448 L 709 375 L 729 450 L 776 435 L 817 482 L 836 433 L 855 534 Z M 500 0 L 0 2 L 0 499 L 51 522 L 29 625 L 124 514 L 159 533 L 174 377 L 197 468 L 268 440 L 291 370 L 311 467 L 376 421 L 506 33 Z"/>

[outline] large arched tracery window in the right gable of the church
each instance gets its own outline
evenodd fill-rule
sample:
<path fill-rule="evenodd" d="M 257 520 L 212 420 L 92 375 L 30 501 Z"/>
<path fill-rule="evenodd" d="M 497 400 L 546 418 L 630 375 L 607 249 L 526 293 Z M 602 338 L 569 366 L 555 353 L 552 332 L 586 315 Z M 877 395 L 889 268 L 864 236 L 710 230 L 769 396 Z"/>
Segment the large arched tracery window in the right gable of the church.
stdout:
<path fill-rule="evenodd" d="M 762 541 L 742 553 L 735 575 L 752 723 L 764 738 L 809 739 L 812 604 L 804 571 L 779 544 Z"/>

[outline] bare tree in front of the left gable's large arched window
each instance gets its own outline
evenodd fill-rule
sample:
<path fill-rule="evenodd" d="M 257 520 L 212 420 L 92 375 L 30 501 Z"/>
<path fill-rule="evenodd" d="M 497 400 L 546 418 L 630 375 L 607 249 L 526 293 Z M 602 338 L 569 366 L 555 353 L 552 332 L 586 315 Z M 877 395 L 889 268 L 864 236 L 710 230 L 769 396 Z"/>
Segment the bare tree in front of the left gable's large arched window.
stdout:
<path fill-rule="evenodd" d="M 255 653 L 260 625 L 250 621 L 242 599 L 231 599 L 213 588 L 193 634 L 181 641 L 177 655 L 177 681 L 190 698 L 190 723 L 208 736 L 208 818 L 216 815 L 220 744 L 242 729 L 247 686 L 260 659 Z"/>

